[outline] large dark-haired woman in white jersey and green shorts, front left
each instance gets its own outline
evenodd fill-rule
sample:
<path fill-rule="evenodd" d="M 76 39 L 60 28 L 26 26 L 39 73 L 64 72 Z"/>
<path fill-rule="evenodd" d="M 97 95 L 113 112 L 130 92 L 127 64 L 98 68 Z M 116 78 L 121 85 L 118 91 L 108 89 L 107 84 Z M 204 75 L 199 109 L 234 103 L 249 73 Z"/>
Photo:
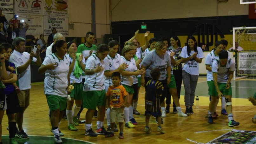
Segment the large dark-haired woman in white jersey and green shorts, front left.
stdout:
<path fill-rule="evenodd" d="M 52 54 L 45 57 L 41 67 L 38 69 L 38 73 L 45 73 L 44 94 L 51 111 L 50 121 L 54 140 L 56 143 L 62 143 L 59 123 L 66 108 L 69 74 L 72 70 L 69 70 L 70 59 L 65 56 L 67 52 L 67 43 L 65 41 L 56 41 L 52 52 Z"/>

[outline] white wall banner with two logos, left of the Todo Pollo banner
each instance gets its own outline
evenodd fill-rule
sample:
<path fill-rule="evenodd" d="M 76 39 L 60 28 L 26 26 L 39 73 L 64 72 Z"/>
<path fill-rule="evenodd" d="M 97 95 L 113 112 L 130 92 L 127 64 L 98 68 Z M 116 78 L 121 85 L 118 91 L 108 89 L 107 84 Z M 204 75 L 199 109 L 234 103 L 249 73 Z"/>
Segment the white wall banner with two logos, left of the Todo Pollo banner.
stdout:
<path fill-rule="evenodd" d="M 14 2 L 16 15 L 43 16 L 43 3 L 41 1 L 15 0 Z"/>

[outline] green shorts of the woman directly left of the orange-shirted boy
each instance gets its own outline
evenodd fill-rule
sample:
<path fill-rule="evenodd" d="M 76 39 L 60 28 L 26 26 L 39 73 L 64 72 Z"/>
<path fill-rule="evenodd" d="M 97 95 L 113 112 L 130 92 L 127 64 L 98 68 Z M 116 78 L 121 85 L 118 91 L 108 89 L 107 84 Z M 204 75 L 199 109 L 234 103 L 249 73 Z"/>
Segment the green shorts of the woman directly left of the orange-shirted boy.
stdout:
<path fill-rule="evenodd" d="M 83 96 L 83 108 L 96 109 L 97 106 L 106 105 L 106 90 L 86 91 Z"/>

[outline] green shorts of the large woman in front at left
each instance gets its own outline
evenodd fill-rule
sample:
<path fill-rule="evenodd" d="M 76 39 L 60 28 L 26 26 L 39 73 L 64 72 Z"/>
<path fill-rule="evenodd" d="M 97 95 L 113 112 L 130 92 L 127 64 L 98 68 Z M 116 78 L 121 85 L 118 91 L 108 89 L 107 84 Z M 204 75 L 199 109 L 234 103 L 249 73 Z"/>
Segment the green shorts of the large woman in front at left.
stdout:
<path fill-rule="evenodd" d="M 46 95 L 47 103 L 50 111 L 60 109 L 60 111 L 66 109 L 67 97 L 61 97 L 58 95 Z"/>

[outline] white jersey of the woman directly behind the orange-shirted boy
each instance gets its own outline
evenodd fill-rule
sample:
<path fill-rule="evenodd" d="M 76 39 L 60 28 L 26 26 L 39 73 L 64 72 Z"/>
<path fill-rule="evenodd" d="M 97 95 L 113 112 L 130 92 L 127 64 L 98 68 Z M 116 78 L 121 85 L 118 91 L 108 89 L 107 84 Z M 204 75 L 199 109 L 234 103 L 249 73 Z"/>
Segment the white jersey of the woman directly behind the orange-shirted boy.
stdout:
<path fill-rule="evenodd" d="M 105 64 L 104 71 L 113 71 L 115 69 L 118 69 L 118 67 L 121 64 L 121 56 L 119 54 L 115 54 L 115 57 L 112 58 L 108 55 L 104 59 L 104 64 Z M 104 76 L 104 78 L 105 78 L 104 84 L 106 87 L 106 91 L 108 91 L 109 86 L 113 85 L 111 81 L 111 76 L 109 77 Z"/>

